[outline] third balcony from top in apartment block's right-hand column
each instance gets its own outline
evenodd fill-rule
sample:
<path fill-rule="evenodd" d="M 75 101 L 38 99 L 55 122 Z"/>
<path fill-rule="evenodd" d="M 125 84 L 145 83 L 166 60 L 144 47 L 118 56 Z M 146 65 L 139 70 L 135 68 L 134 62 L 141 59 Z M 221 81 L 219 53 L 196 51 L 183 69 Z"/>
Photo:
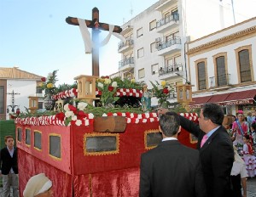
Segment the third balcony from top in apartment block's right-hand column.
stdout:
<path fill-rule="evenodd" d="M 174 64 L 174 65 L 168 65 L 164 68 L 160 68 L 159 70 L 159 79 L 160 80 L 166 80 L 167 78 L 174 77 L 176 73 L 182 75 L 183 74 L 183 65 L 182 64 Z"/>

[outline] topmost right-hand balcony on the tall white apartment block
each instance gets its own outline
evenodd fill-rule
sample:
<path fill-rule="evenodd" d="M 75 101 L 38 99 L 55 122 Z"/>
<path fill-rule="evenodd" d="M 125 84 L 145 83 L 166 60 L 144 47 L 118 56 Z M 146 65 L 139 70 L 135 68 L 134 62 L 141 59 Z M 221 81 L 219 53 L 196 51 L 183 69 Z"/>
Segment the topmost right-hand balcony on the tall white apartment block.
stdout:
<path fill-rule="evenodd" d="M 163 18 L 156 22 L 156 31 L 158 33 L 164 33 L 170 31 L 170 28 L 176 28 L 179 25 L 179 15 L 172 14 L 167 18 Z"/>

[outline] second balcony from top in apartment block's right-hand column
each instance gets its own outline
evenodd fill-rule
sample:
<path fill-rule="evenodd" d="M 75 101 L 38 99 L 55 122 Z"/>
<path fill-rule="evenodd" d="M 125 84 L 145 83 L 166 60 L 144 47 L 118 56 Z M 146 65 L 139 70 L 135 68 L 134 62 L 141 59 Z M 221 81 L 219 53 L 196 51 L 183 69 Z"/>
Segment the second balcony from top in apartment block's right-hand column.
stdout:
<path fill-rule="evenodd" d="M 165 56 L 167 54 L 179 52 L 181 47 L 181 39 L 179 37 L 170 39 L 166 42 L 160 42 L 157 45 L 158 55 Z"/>

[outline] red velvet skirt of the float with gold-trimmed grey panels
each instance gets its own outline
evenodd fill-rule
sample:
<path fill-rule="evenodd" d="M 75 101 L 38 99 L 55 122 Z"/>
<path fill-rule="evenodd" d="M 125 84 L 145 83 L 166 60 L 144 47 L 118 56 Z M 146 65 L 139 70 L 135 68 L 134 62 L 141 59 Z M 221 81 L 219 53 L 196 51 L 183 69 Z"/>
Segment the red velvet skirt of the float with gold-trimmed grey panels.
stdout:
<path fill-rule="evenodd" d="M 20 196 L 28 179 L 40 172 L 52 180 L 55 197 L 138 196 L 140 158 L 159 141 L 154 138 L 159 138 L 158 126 L 158 121 L 127 123 L 125 132 L 116 133 L 94 132 L 93 124 L 16 123 Z M 178 140 L 196 146 L 183 129 Z"/>

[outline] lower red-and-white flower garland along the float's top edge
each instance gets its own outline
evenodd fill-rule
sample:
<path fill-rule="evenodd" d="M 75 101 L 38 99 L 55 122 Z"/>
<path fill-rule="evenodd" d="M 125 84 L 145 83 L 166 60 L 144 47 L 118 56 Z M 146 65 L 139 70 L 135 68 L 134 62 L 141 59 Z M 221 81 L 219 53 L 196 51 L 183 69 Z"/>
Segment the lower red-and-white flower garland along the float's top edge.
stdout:
<path fill-rule="evenodd" d="M 48 125 L 57 125 L 57 126 L 89 126 L 93 124 L 94 115 L 84 113 L 84 109 L 87 107 L 87 104 L 84 102 L 80 102 L 77 107 L 71 104 L 64 105 L 64 112 L 60 112 L 56 115 L 42 115 L 39 117 L 26 117 L 26 118 L 16 118 L 15 123 L 20 125 L 32 125 L 32 126 L 48 126 Z M 159 117 L 157 113 L 143 113 L 136 114 L 130 112 L 117 112 L 112 113 L 108 112 L 108 114 L 103 114 L 102 116 L 123 116 L 126 118 L 126 122 L 129 123 L 147 123 L 159 121 Z M 188 118 L 191 121 L 197 121 L 198 115 L 196 113 L 181 113 L 184 117 Z"/>

